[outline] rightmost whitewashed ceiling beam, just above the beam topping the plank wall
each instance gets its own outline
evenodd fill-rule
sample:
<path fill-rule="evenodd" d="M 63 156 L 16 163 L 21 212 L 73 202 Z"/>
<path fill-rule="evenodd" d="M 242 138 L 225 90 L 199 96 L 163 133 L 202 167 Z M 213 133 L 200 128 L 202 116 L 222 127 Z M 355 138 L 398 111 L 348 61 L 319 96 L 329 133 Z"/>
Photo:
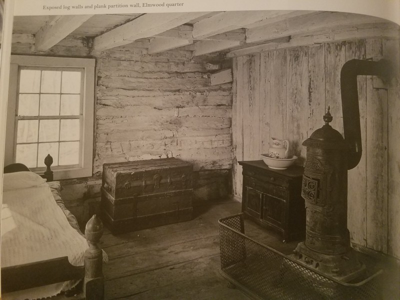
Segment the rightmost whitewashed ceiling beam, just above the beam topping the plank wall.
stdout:
<path fill-rule="evenodd" d="M 320 12 L 312 15 L 301 15 L 292 19 L 246 30 L 247 43 L 268 40 L 281 36 L 312 32 L 317 29 L 334 28 L 343 25 L 381 22 L 382 19 L 361 14 L 342 12 Z M 193 29 L 194 30 L 194 29 Z"/>

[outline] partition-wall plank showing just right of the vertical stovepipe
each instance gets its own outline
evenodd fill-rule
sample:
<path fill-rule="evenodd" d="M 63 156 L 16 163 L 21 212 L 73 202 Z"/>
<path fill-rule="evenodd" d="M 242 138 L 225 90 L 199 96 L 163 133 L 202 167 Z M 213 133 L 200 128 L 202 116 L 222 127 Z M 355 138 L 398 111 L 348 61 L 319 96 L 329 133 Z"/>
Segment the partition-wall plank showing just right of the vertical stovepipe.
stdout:
<path fill-rule="evenodd" d="M 346 42 L 346 61 L 365 59 L 365 40 Z M 353 242 L 366 245 L 366 77 L 357 77 L 358 105 L 361 128 L 362 156 L 356 167 L 348 171 L 347 180 L 347 228 Z M 354 188 L 356 187 L 356 188 Z"/>

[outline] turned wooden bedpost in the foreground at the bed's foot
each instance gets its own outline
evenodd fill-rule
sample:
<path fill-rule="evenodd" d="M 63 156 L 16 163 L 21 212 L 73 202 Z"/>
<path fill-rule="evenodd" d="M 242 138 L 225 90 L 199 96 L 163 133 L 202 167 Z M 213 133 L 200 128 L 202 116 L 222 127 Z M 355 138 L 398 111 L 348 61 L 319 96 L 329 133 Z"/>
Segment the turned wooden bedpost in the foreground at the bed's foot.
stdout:
<path fill-rule="evenodd" d="M 104 299 L 104 278 L 102 273 L 102 251 L 97 243 L 103 234 L 101 220 L 93 214 L 87 221 L 84 235 L 89 247 L 84 252 L 85 275 L 83 281 L 83 293 L 86 300 Z"/>

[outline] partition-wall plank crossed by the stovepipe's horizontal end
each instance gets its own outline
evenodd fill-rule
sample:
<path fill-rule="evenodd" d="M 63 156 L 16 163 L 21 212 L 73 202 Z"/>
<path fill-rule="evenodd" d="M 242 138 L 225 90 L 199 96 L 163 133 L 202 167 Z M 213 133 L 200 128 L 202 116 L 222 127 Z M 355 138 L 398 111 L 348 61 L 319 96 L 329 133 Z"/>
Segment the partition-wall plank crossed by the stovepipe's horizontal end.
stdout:
<path fill-rule="evenodd" d="M 366 56 L 380 59 L 382 40 L 366 41 Z M 387 251 L 387 91 L 366 76 L 366 245 Z"/>

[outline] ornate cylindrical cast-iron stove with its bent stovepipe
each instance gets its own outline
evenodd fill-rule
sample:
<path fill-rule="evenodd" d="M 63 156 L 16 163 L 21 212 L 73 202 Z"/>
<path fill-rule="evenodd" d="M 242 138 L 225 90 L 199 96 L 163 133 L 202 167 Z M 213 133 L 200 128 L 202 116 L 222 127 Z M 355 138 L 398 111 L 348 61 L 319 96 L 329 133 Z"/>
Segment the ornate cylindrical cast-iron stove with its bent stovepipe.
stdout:
<path fill-rule="evenodd" d="M 329 122 L 312 132 L 307 147 L 301 196 L 305 200 L 306 235 L 294 250 L 299 262 L 349 282 L 364 275 L 365 265 L 350 246 L 347 229 L 347 170 L 361 158 L 357 75 L 384 76 L 383 60 L 347 61 L 340 73 L 344 138 Z"/>

